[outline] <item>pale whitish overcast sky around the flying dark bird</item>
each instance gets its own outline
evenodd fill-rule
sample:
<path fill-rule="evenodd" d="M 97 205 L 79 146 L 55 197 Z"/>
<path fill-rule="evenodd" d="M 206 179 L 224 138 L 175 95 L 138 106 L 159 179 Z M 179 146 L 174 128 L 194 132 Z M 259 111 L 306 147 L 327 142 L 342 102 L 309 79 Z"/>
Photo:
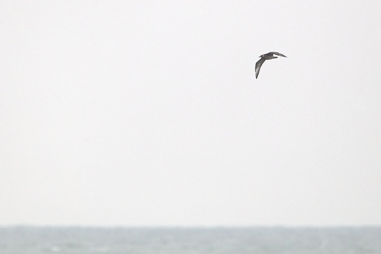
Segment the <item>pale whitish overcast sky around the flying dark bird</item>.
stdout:
<path fill-rule="evenodd" d="M 1 1 L 0 225 L 381 225 L 380 14 Z"/>

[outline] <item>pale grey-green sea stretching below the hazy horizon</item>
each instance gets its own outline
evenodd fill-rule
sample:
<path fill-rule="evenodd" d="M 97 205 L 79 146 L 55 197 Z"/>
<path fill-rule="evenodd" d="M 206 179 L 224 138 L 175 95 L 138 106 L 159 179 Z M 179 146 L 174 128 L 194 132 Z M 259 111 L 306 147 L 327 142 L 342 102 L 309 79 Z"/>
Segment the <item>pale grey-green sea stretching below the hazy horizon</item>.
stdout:
<path fill-rule="evenodd" d="M 381 254 L 381 227 L 0 227 L 1 254 Z"/>

